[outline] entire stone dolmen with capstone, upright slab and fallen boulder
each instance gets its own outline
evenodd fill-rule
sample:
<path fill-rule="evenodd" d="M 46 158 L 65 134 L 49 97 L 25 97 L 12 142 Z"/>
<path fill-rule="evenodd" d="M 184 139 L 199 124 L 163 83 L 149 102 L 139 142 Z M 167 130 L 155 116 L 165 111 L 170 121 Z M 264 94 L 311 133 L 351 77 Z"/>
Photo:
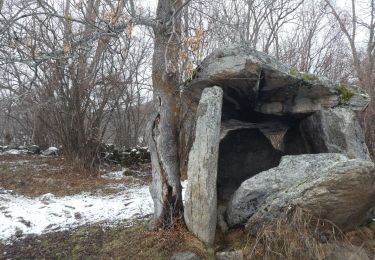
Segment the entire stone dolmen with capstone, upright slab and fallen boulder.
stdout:
<path fill-rule="evenodd" d="M 244 46 L 215 51 L 194 75 L 184 210 L 192 233 L 213 243 L 218 219 L 257 231 L 294 207 L 343 230 L 364 223 L 375 207 L 375 164 L 357 117 L 366 92 Z"/>

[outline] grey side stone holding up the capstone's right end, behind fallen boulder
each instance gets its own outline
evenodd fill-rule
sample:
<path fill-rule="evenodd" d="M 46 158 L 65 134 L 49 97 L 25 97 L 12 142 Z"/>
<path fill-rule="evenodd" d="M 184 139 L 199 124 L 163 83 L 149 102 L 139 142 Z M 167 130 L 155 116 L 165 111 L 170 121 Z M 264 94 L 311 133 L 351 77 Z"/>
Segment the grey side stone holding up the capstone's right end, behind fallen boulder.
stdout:
<path fill-rule="evenodd" d="M 345 108 L 322 110 L 287 132 L 286 154 L 343 153 L 370 160 L 365 136 L 355 113 Z"/>

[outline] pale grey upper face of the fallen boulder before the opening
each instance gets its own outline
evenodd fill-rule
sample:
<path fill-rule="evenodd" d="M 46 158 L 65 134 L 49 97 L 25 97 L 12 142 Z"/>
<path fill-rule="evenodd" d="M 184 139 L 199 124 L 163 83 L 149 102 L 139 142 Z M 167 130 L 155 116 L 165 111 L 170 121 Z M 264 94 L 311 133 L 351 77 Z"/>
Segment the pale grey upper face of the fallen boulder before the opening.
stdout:
<path fill-rule="evenodd" d="M 346 160 L 340 154 L 283 156 L 278 167 L 244 181 L 236 190 L 227 209 L 229 226 L 245 224 L 268 197 L 293 185 L 318 178 L 324 169 Z"/>

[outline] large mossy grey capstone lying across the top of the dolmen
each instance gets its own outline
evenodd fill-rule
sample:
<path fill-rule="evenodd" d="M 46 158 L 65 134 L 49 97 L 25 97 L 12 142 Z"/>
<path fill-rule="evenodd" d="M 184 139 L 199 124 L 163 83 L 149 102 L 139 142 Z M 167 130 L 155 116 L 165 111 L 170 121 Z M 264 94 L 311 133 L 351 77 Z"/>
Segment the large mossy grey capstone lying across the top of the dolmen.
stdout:
<path fill-rule="evenodd" d="M 360 88 L 299 72 L 265 53 L 239 45 L 210 54 L 197 69 L 189 88 L 200 93 L 213 85 L 224 90 L 223 116 L 230 107 L 284 115 L 311 113 L 338 105 L 363 110 L 370 101 Z M 342 88 L 353 96 L 343 98 Z"/>

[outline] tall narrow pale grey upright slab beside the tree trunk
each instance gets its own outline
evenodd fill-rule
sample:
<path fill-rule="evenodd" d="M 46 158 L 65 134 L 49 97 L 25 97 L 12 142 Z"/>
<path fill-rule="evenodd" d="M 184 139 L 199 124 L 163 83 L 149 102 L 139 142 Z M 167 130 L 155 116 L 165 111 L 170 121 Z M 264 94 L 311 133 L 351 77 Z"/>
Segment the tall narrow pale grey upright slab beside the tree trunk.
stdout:
<path fill-rule="evenodd" d="M 189 153 L 184 217 L 188 229 L 212 244 L 217 222 L 217 168 L 223 91 L 203 90 L 197 110 L 195 140 Z"/>

